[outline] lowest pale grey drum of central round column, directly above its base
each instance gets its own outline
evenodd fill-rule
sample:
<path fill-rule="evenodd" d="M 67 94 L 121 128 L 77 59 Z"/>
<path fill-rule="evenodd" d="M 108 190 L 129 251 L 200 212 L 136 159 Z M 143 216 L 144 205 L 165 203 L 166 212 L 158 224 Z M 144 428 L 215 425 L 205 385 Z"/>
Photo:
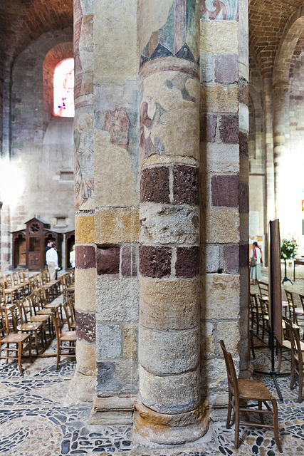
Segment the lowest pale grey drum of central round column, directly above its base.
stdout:
<path fill-rule="evenodd" d="M 147 407 L 159 413 L 183 413 L 199 403 L 198 371 L 160 377 L 140 366 L 140 395 Z"/>

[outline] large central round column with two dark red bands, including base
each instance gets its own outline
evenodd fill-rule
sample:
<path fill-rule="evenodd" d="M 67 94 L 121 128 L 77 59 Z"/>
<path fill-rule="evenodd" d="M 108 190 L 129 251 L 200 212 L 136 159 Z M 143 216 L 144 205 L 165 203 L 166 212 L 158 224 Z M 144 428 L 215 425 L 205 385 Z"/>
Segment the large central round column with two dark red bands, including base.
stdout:
<path fill-rule="evenodd" d="M 199 2 L 140 0 L 140 327 L 135 429 L 207 430 L 199 389 Z"/>

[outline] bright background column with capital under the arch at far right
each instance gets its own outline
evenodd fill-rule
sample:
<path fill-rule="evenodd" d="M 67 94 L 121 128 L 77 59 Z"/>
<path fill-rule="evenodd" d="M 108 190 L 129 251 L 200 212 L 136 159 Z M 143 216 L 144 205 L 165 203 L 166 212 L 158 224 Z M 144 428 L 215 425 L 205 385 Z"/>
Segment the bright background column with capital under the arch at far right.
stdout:
<path fill-rule="evenodd" d="M 289 86 L 288 83 L 276 83 L 276 86 L 273 87 L 273 162 L 276 218 L 280 218 L 286 209 L 284 204 L 285 102 Z M 284 230 L 282 224 L 281 229 Z"/>

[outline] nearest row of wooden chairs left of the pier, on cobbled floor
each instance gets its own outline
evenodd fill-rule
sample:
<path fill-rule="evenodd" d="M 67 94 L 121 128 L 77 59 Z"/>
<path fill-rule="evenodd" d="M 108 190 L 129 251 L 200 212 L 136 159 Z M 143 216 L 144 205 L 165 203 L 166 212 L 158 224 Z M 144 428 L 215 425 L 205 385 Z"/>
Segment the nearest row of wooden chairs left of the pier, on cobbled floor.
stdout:
<path fill-rule="evenodd" d="M 20 373 L 22 373 L 21 357 L 24 353 L 28 353 L 32 361 L 33 344 L 36 348 L 36 356 L 40 356 L 55 336 L 57 338 L 56 368 L 63 354 L 75 356 L 73 295 L 64 301 L 63 305 L 58 300 L 48 302 L 47 296 L 46 289 L 39 287 L 16 303 L 0 307 L 0 359 L 6 359 L 6 362 L 11 358 L 18 360 Z M 63 311 L 65 320 L 63 320 Z M 68 324 L 68 333 L 61 333 L 64 323 Z M 64 347 L 66 338 L 69 343 L 67 353 Z"/>

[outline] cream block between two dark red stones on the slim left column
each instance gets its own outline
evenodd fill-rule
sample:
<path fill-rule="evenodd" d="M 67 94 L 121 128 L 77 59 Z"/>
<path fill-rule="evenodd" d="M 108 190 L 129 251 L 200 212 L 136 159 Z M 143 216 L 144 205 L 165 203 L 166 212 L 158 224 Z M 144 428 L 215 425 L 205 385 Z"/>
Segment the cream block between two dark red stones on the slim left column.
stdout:
<path fill-rule="evenodd" d="M 95 311 L 96 276 L 96 269 L 75 269 L 75 308 L 78 311 Z"/>

